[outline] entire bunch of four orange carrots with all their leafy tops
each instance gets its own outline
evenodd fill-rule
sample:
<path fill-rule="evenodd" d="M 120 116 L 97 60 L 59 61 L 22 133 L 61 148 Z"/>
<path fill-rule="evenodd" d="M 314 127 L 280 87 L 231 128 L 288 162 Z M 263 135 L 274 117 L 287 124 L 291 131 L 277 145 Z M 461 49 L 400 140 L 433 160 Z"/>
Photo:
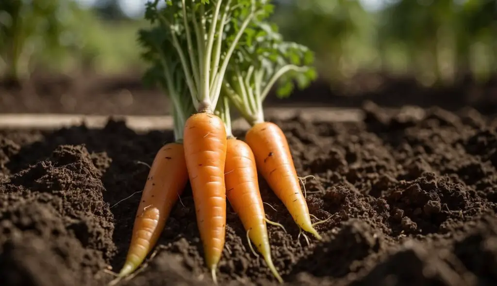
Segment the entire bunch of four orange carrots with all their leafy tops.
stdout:
<path fill-rule="evenodd" d="M 262 102 L 276 83 L 281 96 L 291 93 L 295 81 L 300 87 L 309 84 L 316 77 L 313 53 L 285 42 L 266 21 L 273 8 L 268 0 L 159 4 L 147 3 L 152 27 L 140 30 L 139 41 L 150 63 L 145 79 L 172 102 L 175 142 L 165 144 L 151 165 L 119 277 L 133 273 L 150 253 L 189 181 L 213 281 L 225 244 L 228 199 L 250 248 L 255 253 L 254 243 L 281 283 L 266 223 L 283 226 L 264 214 L 258 173 L 301 231 L 321 239 L 314 225 L 323 221 L 312 223 L 287 140 L 277 125 L 264 120 Z M 245 141 L 232 134 L 230 106 L 250 124 Z"/>

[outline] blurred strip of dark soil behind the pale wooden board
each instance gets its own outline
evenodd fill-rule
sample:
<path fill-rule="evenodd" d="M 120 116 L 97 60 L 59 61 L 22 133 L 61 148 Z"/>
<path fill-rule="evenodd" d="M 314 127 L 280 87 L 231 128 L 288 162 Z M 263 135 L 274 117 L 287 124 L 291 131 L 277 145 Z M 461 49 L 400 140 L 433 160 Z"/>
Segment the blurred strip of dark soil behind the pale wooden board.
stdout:
<path fill-rule="evenodd" d="M 360 73 L 350 82 L 317 80 L 284 99 L 270 94 L 264 105 L 355 108 L 365 100 L 389 107 L 437 105 L 450 111 L 471 106 L 484 114 L 495 113 L 497 76 L 484 83 L 467 77 L 452 86 L 425 88 L 409 76 Z M 0 113 L 47 112 L 163 115 L 169 113 L 169 103 L 159 90 L 145 88 L 139 73 L 102 76 L 85 71 L 62 76 L 38 72 L 22 86 L 0 81 Z"/>

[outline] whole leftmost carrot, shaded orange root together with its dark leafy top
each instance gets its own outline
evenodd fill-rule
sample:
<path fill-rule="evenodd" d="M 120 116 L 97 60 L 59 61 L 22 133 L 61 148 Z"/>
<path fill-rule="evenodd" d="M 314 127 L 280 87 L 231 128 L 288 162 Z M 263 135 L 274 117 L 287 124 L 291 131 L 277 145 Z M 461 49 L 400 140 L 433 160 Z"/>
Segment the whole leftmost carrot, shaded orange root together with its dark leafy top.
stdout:
<path fill-rule="evenodd" d="M 159 36 L 158 36 L 159 35 Z M 165 144 L 152 162 L 132 230 L 132 238 L 120 278 L 134 272 L 150 253 L 161 235 L 172 207 L 176 204 L 188 182 L 188 170 L 183 148 L 185 121 L 193 112 L 193 102 L 182 96 L 187 88 L 184 74 L 179 72 L 175 55 L 166 54 L 158 47 L 167 45 L 157 28 L 139 31 L 139 42 L 148 50 L 146 60 L 152 67 L 144 81 L 158 85 L 167 94 L 171 104 L 175 142 Z M 155 55 L 151 57 L 150 55 Z"/>

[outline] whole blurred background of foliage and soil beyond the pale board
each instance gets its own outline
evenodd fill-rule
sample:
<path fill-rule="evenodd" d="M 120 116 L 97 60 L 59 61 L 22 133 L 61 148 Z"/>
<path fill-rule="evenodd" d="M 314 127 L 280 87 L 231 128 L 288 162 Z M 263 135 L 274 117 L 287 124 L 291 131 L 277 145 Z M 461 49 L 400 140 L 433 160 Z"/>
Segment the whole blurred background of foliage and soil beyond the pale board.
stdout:
<path fill-rule="evenodd" d="M 145 0 L 1 0 L 0 112 L 167 114 L 142 86 Z M 320 78 L 273 105 L 497 108 L 497 0 L 278 0 Z"/>

